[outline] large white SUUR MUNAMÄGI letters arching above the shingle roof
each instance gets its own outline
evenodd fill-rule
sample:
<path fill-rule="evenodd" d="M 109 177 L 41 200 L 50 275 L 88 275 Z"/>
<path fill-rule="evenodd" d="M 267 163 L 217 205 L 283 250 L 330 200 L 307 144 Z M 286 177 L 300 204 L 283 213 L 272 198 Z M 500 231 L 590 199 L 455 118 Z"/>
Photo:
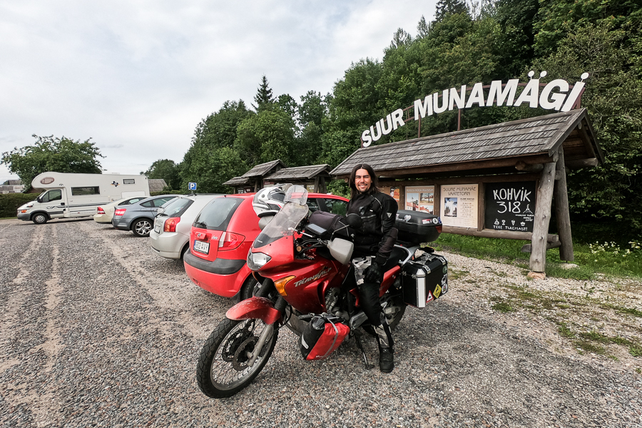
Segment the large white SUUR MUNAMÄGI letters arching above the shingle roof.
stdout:
<path fill-rule="evenodd" d="M 414 120 L 418 121 L 426 116 L 452 110 L 455 106 L 461 110 L 462 108 L 474 106 L 521 106 L 523 103 L 529 103 L 531 108 L 541 107 L 546 110 L 570 111 L 584 90 L 584 80 L 588 78 L 588 73 L 583 73 L 581 81 L 576 82 L 572 87 L 569 86 L 569 82 L 557 78 L 546 84 L 540 91 L 539 78 L 532 78 L 534 74 L 534 71 L 529 73 L 531 80 L 526 83 L 524 90 L 521 91 L 517 99 L 515 99 L 515 96 L 517 87 L 520 85 L 519 79 L 516 78 L 510 79 L 505 84 L 501 83 L 501 81 L 492 81 L 489 86 L 475 83 L 470 91 L 467 90 L 466 85 L 462 85 L 459 91 L 457 88 L 450 88 L 444 89 L 441 94 L 438 92 L 432 93 L 423 100 L 414 101 Z M 546 76 L 546 71 L 542 71 L 539 76 Z M 484 93 L 484 88 L 488 89 L 487 94 Z M 569 89 L 571 90 L 570 93 Z M 370 126 L 369 129 L 363 131 L 361 134 L 362 146 L 370 146 L 373 141 L 377 141 L 382 136 L 388 135 L 400 126 L 404 126 L 403 116 L 404 110 L 397 108 L 397 110 Z"/>

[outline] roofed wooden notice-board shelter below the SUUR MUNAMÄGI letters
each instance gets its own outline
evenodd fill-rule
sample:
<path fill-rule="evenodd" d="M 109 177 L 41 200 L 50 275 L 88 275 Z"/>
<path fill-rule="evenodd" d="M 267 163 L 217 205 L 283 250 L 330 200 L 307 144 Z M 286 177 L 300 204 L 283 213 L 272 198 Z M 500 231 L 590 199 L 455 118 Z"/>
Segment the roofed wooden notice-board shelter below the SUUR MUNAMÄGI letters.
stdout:
<path fill-rule="evenodd" d="M 530 240 L 529 268 L 544 272 L 549 248 L 574 260 L 566 169 L 603 161 L 583 108 L 360 148 L 330 174 L 347 180 L 367 163 L 399 208 L 439 215 L 445 233 Z M 559 235 L 548 233 L 553 199 Z"/>

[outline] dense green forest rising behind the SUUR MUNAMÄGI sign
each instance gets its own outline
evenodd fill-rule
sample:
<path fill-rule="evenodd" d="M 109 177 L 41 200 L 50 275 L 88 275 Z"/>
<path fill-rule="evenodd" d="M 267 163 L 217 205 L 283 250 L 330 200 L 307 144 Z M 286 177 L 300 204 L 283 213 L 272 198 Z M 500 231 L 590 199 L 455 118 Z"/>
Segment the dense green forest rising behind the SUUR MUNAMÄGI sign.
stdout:
<path fill-rule="evenodd" d="M 258 163 L 338 165 L 360 147 L 379 118 L 429 93 L 477 82 L 579 81 L 588 72 L 582 106 L 596 128 L 606 163 L 569 172 L 574 215 L 621 220 L 642 231 L 642 4 L 638 0 L 439 0 L 434 21 L 415 34 L 398 29 L 383 56 L 352 63 L 332 93 L 308 91 L 298 100 L 275 96 L 263 76 L 254 103 L 226 101 L 194 131 L 183 160 L 151 165 L 150 178 L 174 189 L 226 192 L 223 183 Z M 462 128 L 540 116 L 539 108 L 470 108 Z M 409 126 L 377 144 L 417 136 Z M 422 119 L 422 136 L 455 131 L 457 111 Z M 6 153 L 5 153 L 6 155 Z M 5 158 L 3 157 L 3 162 Z M 342 183 L 332 184 L 343 191 Z"/>

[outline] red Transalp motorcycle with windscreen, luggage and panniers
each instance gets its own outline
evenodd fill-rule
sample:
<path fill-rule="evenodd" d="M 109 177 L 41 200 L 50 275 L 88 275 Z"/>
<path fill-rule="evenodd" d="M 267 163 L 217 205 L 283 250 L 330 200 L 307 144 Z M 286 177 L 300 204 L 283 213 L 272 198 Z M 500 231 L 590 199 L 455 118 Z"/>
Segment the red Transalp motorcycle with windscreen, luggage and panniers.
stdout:
<path fill-rule="evenodd" d="M 307 360 L 326 358 L 343 340 L 355 337 L 366 367 L 372 368 L 360 335 L 355 334 L 358 327 L 363 327 L 374 335 L 360 310 L 350 263 L 353 249 L 350 230 L 359 227 L 361 219 L 358 215 L 344 218 L 317 211 L 310 215 L 306 199 L 305 188 L 292 186 L 281 210 L 259 215 L 264 228 L 248 253 L 248 267 L 260 286 L 254 297 L 225 313 L 225 320 L 200 352 L 196 377 L 200 390 L 208 397 L 230 397 L 247 387 L 270 359 L 284 325 L 302 338 L 300 345 L 302 351 L 307 347 L 304 353 Z M 423 225 L 432 226 L 429 238 L 436 239 L 441 233 L 441 220 L 434 215 L 399 211 L 400 236 L 404 236 L 403 226 L 408 225 L 412 216 L 419 216 Z M 429 242 L 424 240 L 427 235 L 405 234 L 407 238 L 413 235 L 420 242 Z M 407 304 L 424 307 L 447 291 L 446 260 L 425 253 L 422 263 L 413 261 L 420 248 L 417 239 L 395 245 L 384 267 L 379 295 L 391 330 L 402 320 Z M 426 263 L 427 255 L 438 268 L 428 270 L 422 277 L 421 272 L 426 274 L 425 266 L 430 264 Z M 412 264 L 417 266 L 408 269 Z M 310 331 L 312 325 L 317 325 L 323 336 L 317 345 L 307 343 L 306 330 Z"/>

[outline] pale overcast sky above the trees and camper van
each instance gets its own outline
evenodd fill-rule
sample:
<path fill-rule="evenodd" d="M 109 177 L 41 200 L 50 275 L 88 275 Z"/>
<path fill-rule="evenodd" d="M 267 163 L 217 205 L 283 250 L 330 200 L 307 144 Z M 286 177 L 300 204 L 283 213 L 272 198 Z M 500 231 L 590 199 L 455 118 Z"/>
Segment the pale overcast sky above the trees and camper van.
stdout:
<path fill-rule="evenodd" d="M 332 91 L 437 0 L 0 0 L 0 152 L 91 138 L 106 173 L 180 162 L 226 100 Z M 11 175 L 0 165 L 0 183 Z"/>

